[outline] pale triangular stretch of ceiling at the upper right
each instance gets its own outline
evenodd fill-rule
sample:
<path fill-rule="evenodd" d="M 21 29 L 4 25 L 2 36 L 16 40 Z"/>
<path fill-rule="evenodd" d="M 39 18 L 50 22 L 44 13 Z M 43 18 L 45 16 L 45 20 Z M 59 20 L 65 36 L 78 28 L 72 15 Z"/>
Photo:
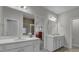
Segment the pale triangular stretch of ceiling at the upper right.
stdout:
<path fill-rule="evenodd" d="M 56 14 L 61 14 L 63 12 L 75 9 L 77 7 L 78 6 L 44 6 L 44 8 L 46 8 Z"/>

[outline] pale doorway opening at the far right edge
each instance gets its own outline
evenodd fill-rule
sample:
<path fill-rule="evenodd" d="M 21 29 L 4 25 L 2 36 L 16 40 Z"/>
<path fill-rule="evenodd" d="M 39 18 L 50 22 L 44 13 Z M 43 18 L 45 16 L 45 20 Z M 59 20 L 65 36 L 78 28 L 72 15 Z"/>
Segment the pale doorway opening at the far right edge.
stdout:
<path fill-rule="evenodd" d="M 79 47 L 79 19 L 72 20 L 72 47 Z"/>

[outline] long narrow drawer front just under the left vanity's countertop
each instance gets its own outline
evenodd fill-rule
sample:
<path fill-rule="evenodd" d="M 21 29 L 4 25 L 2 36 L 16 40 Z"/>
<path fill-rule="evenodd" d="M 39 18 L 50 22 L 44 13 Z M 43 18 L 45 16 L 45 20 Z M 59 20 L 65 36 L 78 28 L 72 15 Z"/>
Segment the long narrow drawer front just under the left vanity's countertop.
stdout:
<path fill-rule="evenodd" d="M 14 44 L 8 44 L 5 46 L 6 49 L 13 49 L 13 48 L 19 48 L 23 46 L 32 45 L 33 42 L 22 42 L 22 43 L 14 43 Z"/>

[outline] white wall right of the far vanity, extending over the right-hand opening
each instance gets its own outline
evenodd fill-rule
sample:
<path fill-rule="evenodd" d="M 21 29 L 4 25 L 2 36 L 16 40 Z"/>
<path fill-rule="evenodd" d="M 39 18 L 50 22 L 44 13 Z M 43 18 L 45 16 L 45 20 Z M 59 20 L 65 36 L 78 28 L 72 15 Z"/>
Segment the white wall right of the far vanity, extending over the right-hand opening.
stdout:
<path fill-rule="evenodd" d="M 72 20 L 79 18 L 79 8 L 59 15 L 59 33 L 65 35 L 65 47 L 72 48 Z"/>

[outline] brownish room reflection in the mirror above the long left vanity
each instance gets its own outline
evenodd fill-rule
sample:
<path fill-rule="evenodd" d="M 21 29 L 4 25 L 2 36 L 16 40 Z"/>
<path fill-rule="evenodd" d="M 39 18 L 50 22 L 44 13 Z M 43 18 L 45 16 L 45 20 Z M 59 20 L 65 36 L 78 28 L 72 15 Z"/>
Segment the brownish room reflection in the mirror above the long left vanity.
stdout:
<path fill-rule="evenodd" d="M 23 35 L 34 35 L 34 19 L 23 17 Z"/>

